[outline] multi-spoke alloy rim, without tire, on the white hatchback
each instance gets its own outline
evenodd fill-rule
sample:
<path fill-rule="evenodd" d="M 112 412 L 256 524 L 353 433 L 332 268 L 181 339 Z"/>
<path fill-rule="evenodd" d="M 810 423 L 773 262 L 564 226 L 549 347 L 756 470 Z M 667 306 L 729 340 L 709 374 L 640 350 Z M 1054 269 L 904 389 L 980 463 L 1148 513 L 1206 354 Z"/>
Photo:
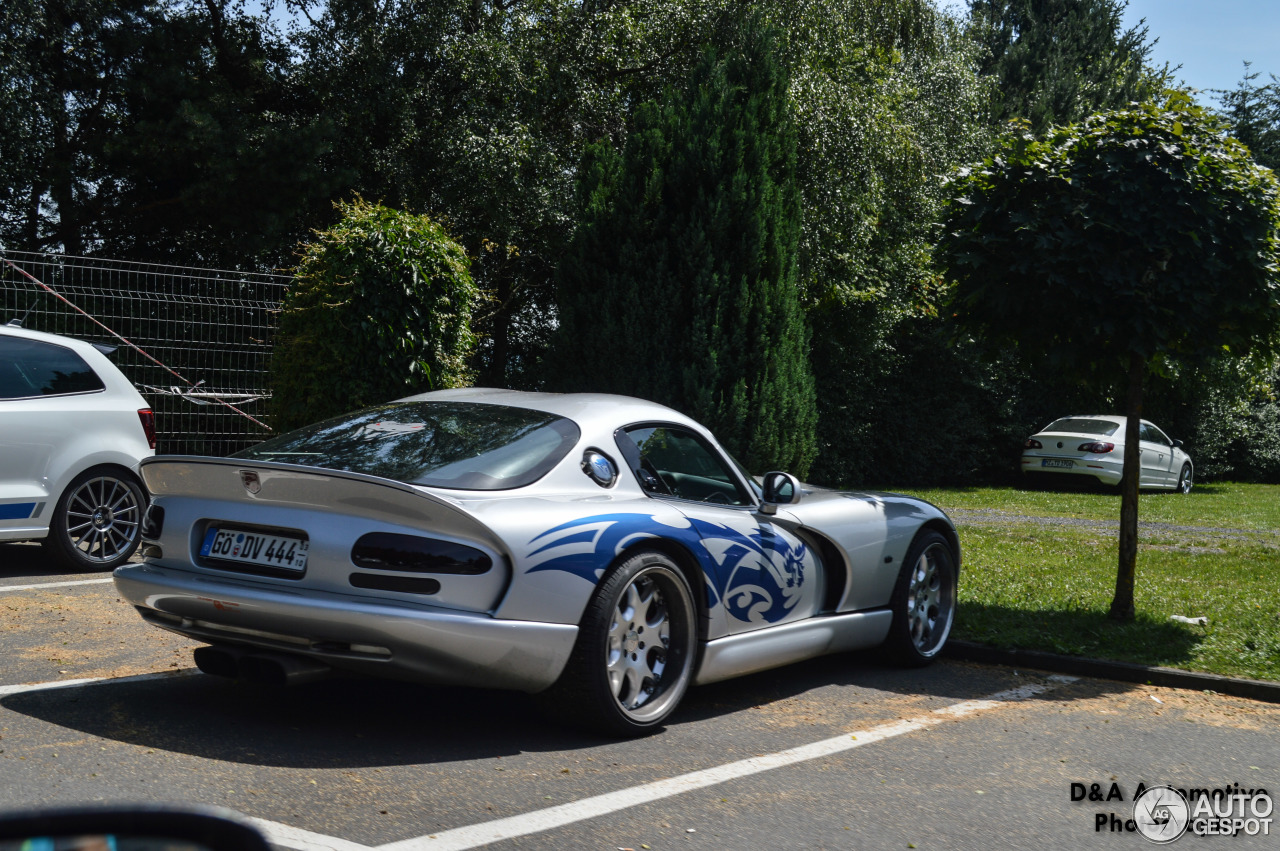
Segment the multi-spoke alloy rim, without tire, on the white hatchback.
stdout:
<path fill-rule="evenodd" d="M 115 476 L 93 476 L 74 486 L 65 505 L 60 531 L 90 566 L 105 566 L 133 553 L 142 525 L 142 500 L 136 488 Z"/>

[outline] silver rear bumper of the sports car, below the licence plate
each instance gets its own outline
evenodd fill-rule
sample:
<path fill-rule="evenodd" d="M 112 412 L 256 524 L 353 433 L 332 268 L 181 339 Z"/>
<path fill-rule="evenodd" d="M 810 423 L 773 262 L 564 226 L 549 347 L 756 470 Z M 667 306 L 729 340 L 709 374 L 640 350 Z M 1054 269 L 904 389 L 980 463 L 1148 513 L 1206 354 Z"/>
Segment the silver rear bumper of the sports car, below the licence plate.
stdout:
<path fill-rule="evenodd" d="M 571 624 L 302 595 L 155 564 L 116 568 L 115 587 L 148 623 L 198 641 L 419 682 L 541 691 L 559 677 L 577 640 Z"/>

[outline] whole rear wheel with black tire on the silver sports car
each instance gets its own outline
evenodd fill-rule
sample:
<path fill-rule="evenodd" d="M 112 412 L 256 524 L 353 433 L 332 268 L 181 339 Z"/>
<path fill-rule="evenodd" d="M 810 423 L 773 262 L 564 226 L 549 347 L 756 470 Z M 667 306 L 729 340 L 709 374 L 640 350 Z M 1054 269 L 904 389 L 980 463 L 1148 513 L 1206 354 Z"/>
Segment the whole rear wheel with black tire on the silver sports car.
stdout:
<path fill-rule="evenodd" d="M 612 736 L 662 726 L 692 682 L 698 607 L 666 554 L 645 550 L 600 580 L 559 678 L 539 695 L 544 713 Z"/>

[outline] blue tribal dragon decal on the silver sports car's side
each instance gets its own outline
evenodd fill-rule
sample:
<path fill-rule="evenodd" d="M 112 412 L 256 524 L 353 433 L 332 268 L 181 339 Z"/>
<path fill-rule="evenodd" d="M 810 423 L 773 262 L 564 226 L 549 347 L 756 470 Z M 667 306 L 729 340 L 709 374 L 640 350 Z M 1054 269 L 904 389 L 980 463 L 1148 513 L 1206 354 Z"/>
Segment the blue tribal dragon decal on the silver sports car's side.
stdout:
<path fill-rule="evenodd" d="M 745 517 L 748 531 L 699 518 L 681 526 L 653 514 L 596 514 L 562 523 L 530 540 L 529 572 L 564 571 L 596 582 L 627 546 L 645 537 L 676 540 L 694 553 L 707 576 L 708 604 L 724 601 L 742 623 L 777 623 L 800 601 L 814 557 L 796 537 Z"/>

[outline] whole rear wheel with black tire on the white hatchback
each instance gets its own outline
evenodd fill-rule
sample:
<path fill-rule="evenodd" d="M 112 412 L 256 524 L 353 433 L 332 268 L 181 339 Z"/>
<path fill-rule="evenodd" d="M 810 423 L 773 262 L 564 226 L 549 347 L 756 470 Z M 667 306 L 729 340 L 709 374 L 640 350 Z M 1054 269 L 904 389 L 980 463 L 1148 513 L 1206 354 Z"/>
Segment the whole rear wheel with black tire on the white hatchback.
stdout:
<path fill-rule="evenodd" d="M 45 548 L 74 571 L 110 571 L 138 548 L 146 493 L 119 467 L 93 467 L 72 480 L 54 507 Z"/>

